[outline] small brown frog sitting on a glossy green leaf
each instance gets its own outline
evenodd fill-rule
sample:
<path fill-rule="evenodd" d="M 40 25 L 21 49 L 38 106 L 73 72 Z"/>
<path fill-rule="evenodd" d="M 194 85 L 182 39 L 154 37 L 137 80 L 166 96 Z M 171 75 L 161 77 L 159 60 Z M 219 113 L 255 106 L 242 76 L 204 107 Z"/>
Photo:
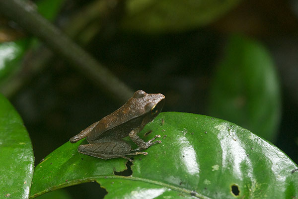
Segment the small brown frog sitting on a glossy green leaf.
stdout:
<path fill-rule="evenodd" d="M 148 155 L 144 150 L 161 143 L 160 140 L 155 141 L 160 135 L 155 135 L 145 142 L 138 133 L 159 114 L 164 99 L 165 96 L 160 93 L 147 94 L 142 90 L 136 91 L 124 105 L 70 138 L 70 142 L 76 143 L 86 137 L 89 144 L 79 145 L 77 151 L 104 160 L 125 158 L 132 162 L 127 156 Z M 123 139 L 127 136 L 138 146 L 136 149 L 132 149 Z"/>

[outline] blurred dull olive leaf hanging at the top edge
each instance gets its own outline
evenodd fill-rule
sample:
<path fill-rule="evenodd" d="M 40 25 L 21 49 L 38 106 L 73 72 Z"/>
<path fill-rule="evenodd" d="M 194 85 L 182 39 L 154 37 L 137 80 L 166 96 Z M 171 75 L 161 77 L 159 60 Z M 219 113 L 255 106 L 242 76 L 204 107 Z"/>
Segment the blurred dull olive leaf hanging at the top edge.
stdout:
<path fill-rule="evenodd" d="M 206 25 L 240 0 L 128 0 L 122 26 L 128 31 L 177 32 Z"/>

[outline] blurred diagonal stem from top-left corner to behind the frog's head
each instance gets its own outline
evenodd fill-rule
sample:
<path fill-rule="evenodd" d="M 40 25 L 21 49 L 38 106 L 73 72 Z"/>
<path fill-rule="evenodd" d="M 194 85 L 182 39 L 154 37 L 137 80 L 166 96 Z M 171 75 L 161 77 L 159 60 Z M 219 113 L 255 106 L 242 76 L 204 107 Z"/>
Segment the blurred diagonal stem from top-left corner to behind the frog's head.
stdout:
<path fill-rule="evenodd" d="M 57 27 L 39 15 L 25 1 L 0 0 L 0 13 L 40 38 L 53 52 L 64 57 L 113 97 L 120 101 L 126 101 L 132 96 L 131 88 L 99 64 Z"/>

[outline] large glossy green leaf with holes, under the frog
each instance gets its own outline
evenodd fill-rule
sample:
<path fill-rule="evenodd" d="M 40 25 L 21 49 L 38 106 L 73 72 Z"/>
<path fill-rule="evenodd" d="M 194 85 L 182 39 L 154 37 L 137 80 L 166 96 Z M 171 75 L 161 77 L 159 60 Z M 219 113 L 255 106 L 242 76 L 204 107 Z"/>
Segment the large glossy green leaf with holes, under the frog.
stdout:
<path fill-rule="evenodd" d="M 152 132 L 144 136 L 149 129 Z M 280 149 L 228 121 L 191 113 L 160 113 L 140 135 L 161 144 L 134 157 L 129 177 L 114 175 L 125 159 L 102 160 L 79 154 L 67 142 L 35 168 L 30 198 L 84 182 L 97 181 L 106 198 L 298 197 L 297 165 Z"/>

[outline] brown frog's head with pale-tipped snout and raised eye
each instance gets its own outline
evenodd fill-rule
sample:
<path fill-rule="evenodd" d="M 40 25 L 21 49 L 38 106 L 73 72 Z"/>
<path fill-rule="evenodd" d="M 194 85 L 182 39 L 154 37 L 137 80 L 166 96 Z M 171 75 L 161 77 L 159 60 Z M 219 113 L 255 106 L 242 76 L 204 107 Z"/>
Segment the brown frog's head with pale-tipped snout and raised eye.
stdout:
<path fill-rule="evenodd" d="M 146 121 L 144 122 L 149 122 L 162 110 L 165 97 L 162 94 L 147 94 L 145 91 L 139 90 L 135 92 L 133 99 L 138 101 L 138 108 L 145 116 Z"/>

